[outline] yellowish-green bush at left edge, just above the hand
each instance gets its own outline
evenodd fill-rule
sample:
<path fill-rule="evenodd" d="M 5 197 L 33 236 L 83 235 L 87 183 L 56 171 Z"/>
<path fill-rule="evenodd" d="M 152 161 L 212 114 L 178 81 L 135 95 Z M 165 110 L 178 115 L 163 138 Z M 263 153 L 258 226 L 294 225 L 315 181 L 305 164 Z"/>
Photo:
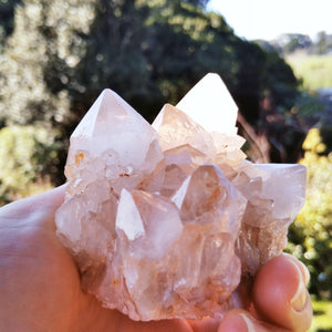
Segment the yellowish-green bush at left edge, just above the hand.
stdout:
<path fill-rule="evenodd" d="M 0 205 L 51 187 L 59 144 L 45 128 L 4 127 L 0 131 Z M 54 172 L 54 169 L 53 169 Z M 48 176 L 46 176 L 48 174 Z"/>

